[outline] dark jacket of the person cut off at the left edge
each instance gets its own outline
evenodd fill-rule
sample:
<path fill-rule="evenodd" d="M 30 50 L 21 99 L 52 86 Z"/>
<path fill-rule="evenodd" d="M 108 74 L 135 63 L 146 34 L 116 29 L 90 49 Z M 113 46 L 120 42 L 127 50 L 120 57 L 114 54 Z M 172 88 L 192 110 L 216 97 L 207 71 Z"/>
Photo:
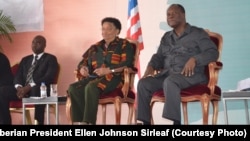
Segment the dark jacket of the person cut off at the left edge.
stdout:
<path fill-rule="evenodd" d="M 9 59 L 0 53 L 0 87 L 4 85 L 13 85 L 13 75 Z"/>

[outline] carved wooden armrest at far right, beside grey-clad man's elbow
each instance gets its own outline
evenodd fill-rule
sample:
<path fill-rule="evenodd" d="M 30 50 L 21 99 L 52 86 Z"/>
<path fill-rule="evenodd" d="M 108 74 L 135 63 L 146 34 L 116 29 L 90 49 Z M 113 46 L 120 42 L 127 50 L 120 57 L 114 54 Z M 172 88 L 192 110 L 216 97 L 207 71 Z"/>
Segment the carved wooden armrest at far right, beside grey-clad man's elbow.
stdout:
<path fill-rule="evenodd" d="M 220 61 L 211 62 L 208 64 L 209 69 L 209 82 L 208 87 L 210 88 L 211 92 L 214 92 L 215 86 L 218 83 L 218 76 L 219 71 L 222 69 L 223 63 Z"/>

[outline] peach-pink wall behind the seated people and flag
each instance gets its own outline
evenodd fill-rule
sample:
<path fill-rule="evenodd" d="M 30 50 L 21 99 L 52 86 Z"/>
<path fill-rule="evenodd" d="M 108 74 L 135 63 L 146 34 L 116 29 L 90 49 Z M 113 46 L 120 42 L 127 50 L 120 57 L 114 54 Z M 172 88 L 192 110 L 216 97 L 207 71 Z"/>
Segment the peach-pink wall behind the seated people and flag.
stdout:
<path fill-rule="evenodd" d="M 159 23 L 165 21 L 166 0 L 138 0 L 144 40 L 141 52 L 141 69 L 144 72 L 149 56 L 163 34 Z M 92 43 L 102 39 L 100 21 L 106 16 L 118 17 L 123 25 L 120 37 L 126 35 L 127 0 L 44 0 L 45 25 L 42 32 L 23 32 L 12 34 L 14 42 L 1 41 L 5 54 L 11 64 L 19 62 L 21 57 L 31 54 L 31 41 L 37 34 L 47 38 L 46 52 L 55 54 L 61 65 L 59 95 L 65 95 L 68 85 L 74 81 L 73 71 L 81 55 Z M 124 106 L 122 123 L 126 123 L 127 106 Z M 108 107 L 108 123 L 113 124 L 113 107 Z M 98 111 L 99 112 L 99 111 Z M 161 113 L 156 115 L 161 117 Z M 100 123 L 98 113 L 98 123 Z M 53 120 L 53 119 L 52 119 Z M 13 122 L 20 124 L 20 115 L 13 115 Z M 157 122 L 157 121 L 156 121 Z M 65 106 L 60 106 L 60 123 L 68 124 Z"/>

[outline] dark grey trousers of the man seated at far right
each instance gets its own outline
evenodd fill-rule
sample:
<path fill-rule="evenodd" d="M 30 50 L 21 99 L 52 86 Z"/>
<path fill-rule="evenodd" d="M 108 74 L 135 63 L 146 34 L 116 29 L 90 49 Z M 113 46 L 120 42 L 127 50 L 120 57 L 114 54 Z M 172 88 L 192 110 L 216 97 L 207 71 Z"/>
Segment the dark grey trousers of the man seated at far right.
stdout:
<path fill-rule="evenodd" d="M 137 120 L 150 123 L 150 102 L 154 92 L 164 91 L 165 103 L 162 117 L 170 120 L 181 121 L 181 96 L 182 89 L 205 82 L 202 75 L 186 77 L 181 74 L 171 74 L 164 77 L 146 77 L 139 80 L 137 85 Z"/>

